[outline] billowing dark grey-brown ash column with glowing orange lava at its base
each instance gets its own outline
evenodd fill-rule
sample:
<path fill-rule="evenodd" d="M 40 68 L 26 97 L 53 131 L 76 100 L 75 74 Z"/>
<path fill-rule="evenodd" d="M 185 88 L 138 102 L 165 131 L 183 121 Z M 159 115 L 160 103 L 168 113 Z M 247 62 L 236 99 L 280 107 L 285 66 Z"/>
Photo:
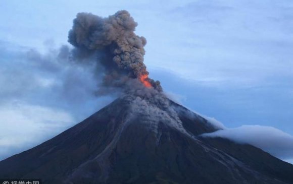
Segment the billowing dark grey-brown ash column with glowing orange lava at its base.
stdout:
<path fill-rule="evenodd" d="M 146 39 L 134 33 L 136 26 L 137 23 L 125 10 L 107 18 L 78 13 L 73 20 L 68 35 L 68 42 L 75 47 L 73 59 L 94 55 L 97 66 L 103 67 L 103 70 L 97 70 L 103 73 L 98 93 L 117 88 L 127 91 L 131 85 L 126 84 L 133 79 L 140 81 L 139 85 L 162 91 L 160 82 L 148 77 L 149 72 L 143 63 Z"/>

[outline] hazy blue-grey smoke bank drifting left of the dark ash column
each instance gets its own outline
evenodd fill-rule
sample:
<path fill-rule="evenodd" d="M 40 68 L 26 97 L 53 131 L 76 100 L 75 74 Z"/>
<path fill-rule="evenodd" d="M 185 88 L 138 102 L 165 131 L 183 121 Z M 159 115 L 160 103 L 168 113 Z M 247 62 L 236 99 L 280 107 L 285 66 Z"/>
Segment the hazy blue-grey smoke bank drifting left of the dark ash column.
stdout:
<path fill-rule="evenodd" d="M 3 43 L 1 46 L 9 47 Z M 71 97 L 73 91 L 83 99 L 84 93 L 94 93 L 97 87 L 90 67 L 74 65 L 68 60 L 69 48 L 47 50 L 41 54 L 35 49 L 0 51 L 0 96 L 21 97 L 28 93 L 41 94 L 54 89 L 56 96 Z M 65 56 L 64 56 L 65 55 Z M 7 98 L 2 98 L 7 99 Z"/>

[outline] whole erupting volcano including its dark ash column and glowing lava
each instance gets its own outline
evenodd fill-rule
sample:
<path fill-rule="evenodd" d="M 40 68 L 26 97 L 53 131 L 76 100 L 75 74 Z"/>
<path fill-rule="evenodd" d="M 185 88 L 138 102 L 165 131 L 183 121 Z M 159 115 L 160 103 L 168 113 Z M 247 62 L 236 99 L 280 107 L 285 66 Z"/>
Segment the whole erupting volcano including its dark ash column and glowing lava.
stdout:
<path fill-rule="evenodd" d="M 74 127 L 0 162 L 0 178 L 43 183 L 293 183 L 293 165 L 251 145 L 202 137 L 221 128 L 168 99 L 143 64 L 128 12 L 81 13 L 71 57 L 104 69 L 98 94 L 120 96 Z M 99 70 L 100 71 L 100 70 Z"/>

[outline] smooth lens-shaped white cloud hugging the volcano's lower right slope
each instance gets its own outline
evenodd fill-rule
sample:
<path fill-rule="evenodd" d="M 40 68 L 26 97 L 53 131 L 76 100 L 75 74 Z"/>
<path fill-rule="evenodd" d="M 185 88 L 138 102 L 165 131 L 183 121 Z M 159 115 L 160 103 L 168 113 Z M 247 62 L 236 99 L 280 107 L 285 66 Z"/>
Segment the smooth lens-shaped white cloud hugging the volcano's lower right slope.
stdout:
<path fill-rule="evenodd" d="M 293 136 L 273 127 L 241 126 L 219 130 L 204 137 L 222 137 L 241 144 L 251 144 L 281 159 L 293 159 Z"/>

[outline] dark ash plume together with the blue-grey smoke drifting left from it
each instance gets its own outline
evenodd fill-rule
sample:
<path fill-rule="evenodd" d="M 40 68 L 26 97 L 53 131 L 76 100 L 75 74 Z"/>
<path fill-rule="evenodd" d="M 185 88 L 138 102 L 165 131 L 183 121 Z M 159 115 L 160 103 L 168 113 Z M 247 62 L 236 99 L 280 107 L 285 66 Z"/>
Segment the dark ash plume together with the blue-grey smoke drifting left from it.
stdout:
<path fill-rule="evenodd" d="M 69 32 L 74 47 L 49 44 L 44 53 L 18 47 L 11 51 L 7 49 L 13 46 L 0 41 L 4 48 L 0 54 L 7 60 L 0 66 L 0 96 L 4 97 L 0 103 L 12 98 L 45 101 L 43 96 L 50 96 L 52 105 L 62 100 L 78 106 L 94 96 L 112 98 L 122 93 L 155 99 L 162 91 L 160 83 L 147 79 L 153 88 L 146 88 L 137 79 L 148 71 L 143 64 L 146 41 L 134 34 L 136 26 L 126 11 L 108 18 L 79 13 Z"/>

